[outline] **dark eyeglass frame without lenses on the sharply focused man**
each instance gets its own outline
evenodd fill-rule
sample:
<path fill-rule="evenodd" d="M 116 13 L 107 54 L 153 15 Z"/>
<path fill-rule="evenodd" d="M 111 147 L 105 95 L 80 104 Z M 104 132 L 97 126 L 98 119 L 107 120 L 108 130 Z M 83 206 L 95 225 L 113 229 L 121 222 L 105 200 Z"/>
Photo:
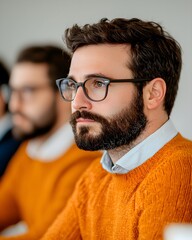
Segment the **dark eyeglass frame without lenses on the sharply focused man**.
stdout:
<path fill-rule="evenodd" d="M 86 89 L 85 89 L 85 84 L 86 84 L 87 81 L 90 80 L 90 78 L 86 79 L 84 82 L 76 82 L 74 79 L 67 78 L 67 77 L 66 77 L 66 78 L 59 78 L 59 79 L 56 80 L 56 85 L 57 85 L 57 87 L 58 87 L 58 89 L 59 89 L 59 92 L 60 92 L 62 98 L 63 98 L 65 101 L 67 101 L 67 102 L 72 102 L 72 101 L 75 99 L 75 96 L 76 96 L 76 94 L 77 94 L 77 90 L 78 90 L 79 87 L 82 87 L 83 93 L 85 94 L 85 96 L 86 96 L 89 100 L 91 100 L 91 101 L 93 101 L 93 102 L 101 102 L 101 101 L 103 101 L 103 100 L 107 97 L 108 88 L 109 88 L 110 83 L 124 83 L 124 82 L 128 82 L 128 83 L 141 83 L 141 82 L 152 81 L 152 79 L 148 79 L 148 78 L 113 79 L 113 78 L 107 78 L 107 77 L 101 77 L 101 76 L 91 76 L 91 77 L 96 77 L 96 78 L 98 78 L 98 79 L 100 78 L 100 79 L 103 79 L 103 80 L 105 80 L 105 81 L 107 82 L 106 85 L 105 85 L 105 86 L 106 86 L 105 96 L 104 96 L 101 100 L 94 100 L 94 99 L 90 98 L 89 95 L 87 94 Z M 62 82 L 63 80 L 71 80 L 71 81 L 73 81 L 74 84 L 75 84 L 76 93 L 75 93 L 74 98 L 71 99 L 71 100 L 66 99 L 66 98 L 64 97 L 64 95 L 62 94 L 61 82 Z"/>

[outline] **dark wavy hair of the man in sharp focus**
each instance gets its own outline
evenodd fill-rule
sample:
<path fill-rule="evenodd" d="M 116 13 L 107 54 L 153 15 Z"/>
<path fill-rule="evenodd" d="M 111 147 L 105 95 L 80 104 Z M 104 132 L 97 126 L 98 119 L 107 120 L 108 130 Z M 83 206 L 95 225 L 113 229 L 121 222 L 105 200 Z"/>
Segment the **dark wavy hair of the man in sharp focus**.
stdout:
<path fill-rule="evenodd" d="M 65 31 L 65 42 L 74 53 L 79 47 L 94 44 L 128 44 L 132 61 L 128 67 L 134 78 L 161 77 L 167 91 L 164 108 L 170 115 L 178 90 L 182 59 L 179 43 L 162 26 L 137 18 L 101 19 L 96 24 L 77 24 Z M 136 84 L 142 94 L 147 83 Z"/>

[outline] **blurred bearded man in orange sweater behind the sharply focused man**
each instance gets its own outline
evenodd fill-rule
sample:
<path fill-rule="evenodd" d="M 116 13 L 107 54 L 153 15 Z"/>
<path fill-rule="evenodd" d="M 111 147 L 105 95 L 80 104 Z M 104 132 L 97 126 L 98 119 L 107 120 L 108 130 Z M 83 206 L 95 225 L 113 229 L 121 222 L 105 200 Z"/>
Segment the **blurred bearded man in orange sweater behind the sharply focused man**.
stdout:
<path fill-rule="evenodd" d="M 0 230 L 23 221 L 27 231 L 6 239 L 40 239 L 79 176 L 101 157 L 75 145 L 68 124 L 70 103 L 62 101 L 55 85 L 56 78 L 67 76 L 70 60 L 59 47 L 31 46 L 21 51 L 12 69 L 13 133 L 26 141 L 2 178 Z"/>

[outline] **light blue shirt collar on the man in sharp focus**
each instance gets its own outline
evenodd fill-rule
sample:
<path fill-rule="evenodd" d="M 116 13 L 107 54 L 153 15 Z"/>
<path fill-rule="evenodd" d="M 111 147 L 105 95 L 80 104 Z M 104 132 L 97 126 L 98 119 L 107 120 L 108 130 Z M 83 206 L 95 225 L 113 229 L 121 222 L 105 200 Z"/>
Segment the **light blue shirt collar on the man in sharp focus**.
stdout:
<path fill-rule="evenodd" d="M 166 143 L 177 135 L 178 131 L 169 119 L 162 127 L 147 137 L 144 141 L 132 148 L 114 165 L 107 153 L 101 159 L 102 167 L 110 173 L 124 174 L 143 164 L 151 158 Z"/>

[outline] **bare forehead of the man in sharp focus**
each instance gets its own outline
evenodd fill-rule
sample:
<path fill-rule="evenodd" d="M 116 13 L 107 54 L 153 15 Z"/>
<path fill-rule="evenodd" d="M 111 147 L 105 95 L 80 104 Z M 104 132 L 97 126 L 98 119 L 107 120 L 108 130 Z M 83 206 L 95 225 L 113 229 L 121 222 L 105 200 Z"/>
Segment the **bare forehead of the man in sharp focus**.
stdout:
<path fill-rule="evenodd" d="M 119 78 L 122 71 L 129 71 L 130 47 L 125 44 L 99 44 L 78 48 L 71 61 L 69 76 L 102 74 Z M 115 74 L 115 75 L 114 75 Z M 113 76 L 114 75 L 114 76 Z"/>

